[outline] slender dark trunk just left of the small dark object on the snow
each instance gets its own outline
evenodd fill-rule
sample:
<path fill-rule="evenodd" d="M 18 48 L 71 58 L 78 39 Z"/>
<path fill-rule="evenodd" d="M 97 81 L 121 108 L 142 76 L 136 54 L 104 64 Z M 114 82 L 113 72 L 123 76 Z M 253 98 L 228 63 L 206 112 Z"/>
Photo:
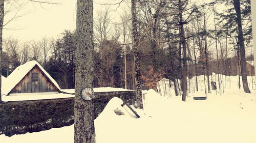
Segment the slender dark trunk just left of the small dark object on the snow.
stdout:
<path fill-rule="evenodd" d="M 179 18 L 180 18 L 180 36 L 181 44 L 183 50 L 183 68 L 182 68 L 182 101 L 186 101 L 187 94 L 187 52 L 186 52 L 186 40 L 184 34 L 184 23 L 182 18 L 182 5 L 181 0 L 179 0 Z"/>

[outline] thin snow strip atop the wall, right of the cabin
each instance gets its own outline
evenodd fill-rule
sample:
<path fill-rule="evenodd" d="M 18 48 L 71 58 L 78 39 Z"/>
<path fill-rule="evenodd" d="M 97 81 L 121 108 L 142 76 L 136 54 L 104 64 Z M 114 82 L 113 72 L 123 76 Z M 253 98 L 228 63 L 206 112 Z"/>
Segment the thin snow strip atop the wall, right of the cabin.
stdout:
<path fill-rule="evenodd" d="M 94 93 L 101 93 L 101 92 L 127 92 L 127 91 L 135 91 L 135 90 L 127 90 L 122 88 L 111 88 L 111 87 L 104 87 L 104 88 L 93 88 Z M 75 89 L 64 89 L 61 92 L 66 92 L 69 94 L 74 94 Z"/>

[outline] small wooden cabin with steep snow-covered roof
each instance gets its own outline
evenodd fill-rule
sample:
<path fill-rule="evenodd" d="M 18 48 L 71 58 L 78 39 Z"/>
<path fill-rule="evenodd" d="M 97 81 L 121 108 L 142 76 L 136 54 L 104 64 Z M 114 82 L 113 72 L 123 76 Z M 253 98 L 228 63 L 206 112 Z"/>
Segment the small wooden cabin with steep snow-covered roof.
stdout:
<path fill-rule="evenodd" d="M 57 82 L 36 61 L 17 67 L 3 82 L 3 95 L 19 93 L 58 93 Z"/>

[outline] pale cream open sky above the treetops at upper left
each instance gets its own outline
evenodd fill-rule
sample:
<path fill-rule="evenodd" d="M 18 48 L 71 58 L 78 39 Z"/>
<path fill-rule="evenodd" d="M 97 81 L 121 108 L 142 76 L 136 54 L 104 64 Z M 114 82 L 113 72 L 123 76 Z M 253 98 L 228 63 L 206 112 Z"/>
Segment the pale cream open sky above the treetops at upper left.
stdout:
<path fill-rule="evenodd" d="M 26 5 L 19 15 L 23 15 L 8 23 L 3 30 L 3 37 L 15 37 L 20 41 L 40 40 L 42 37 L 60 37 L 64 30 L 75 30 L 76 28 L 76 1 L 55 0 L 57 5 L 42 5 L 23 0 Z M 52 2 L 52 1 L 51 1 Z M 116 3 L 118 1 L 109 1 Z M 94 15 L 103 9 L 106 1 L 94 1 Z M 116 6 L 112 6 L 115 9 Z M 120 10 L 121 8 L 119 8 Z M 25 11 L 26 10 L 26 11 Z M 119 11 L 118 10 L 118 11 Z M 118 11 L 112 11 L 112 18 L 119 17 Z M 15 12 L 14 12 L 15 13 Z M 13 17 L 14 13 L 9 13 L 4 19 L 4 23 Z"/>

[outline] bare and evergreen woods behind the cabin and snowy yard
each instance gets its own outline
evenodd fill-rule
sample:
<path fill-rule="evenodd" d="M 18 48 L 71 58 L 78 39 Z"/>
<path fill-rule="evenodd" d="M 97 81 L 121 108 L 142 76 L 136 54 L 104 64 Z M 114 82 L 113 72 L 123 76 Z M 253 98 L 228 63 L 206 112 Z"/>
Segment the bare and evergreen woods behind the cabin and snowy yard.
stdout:
<path fill-rule="evenodd" d="M 157 81 L 166 78 L 176 96 L 183 95 L 185 101 L 190 78 L 205 75 L 205 92 L 210 93 L 209 79 L 214 72 L 220 93 L 225 89 L 220 74 L 236 73 L 239 81 L 242 76 L 243 89 L 249 93 L 245 65 L 253 61 L 248 53 L 252 47 L 250 3 L 241 3 L 239 7 L 240 1 L 122 2 L 133 7 L 123 10 L 120 22 L 113 22 L 113 6 L 104 6 L 94 17 L 94 87 L 157 90 Z M 36 60 L 61 88 L 74 88 L 76 34 L 65 30 L 59 38 L 26 42 L 4 38 L 3 75 Z M 237 64 L 229 65 L 230 60 Z M 198 91 L 198 84 L 196 88 Z"/>

